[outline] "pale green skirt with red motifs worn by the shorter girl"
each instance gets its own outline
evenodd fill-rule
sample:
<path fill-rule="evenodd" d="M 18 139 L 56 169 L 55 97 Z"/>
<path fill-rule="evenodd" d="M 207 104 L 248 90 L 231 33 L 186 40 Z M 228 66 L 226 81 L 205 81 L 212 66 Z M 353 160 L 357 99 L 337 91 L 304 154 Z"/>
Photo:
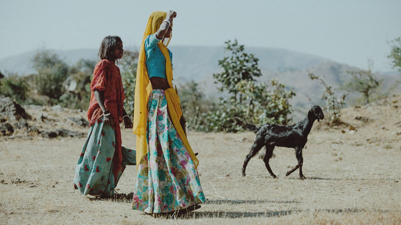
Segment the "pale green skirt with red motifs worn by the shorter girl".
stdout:
<path fill-rule="evenodd" d="M 79 189 L 84 195 L 110 196 L 114 194 L 114 187 L 125 166 L 136 164 L 136 151 L 121 147 L 123 156 L 121 170 L 117 179 L 114 179 L 112 170 L 115 143 L 114 129 L 105 124 L 103 119 L 99 119 L 89 127 L 88 137 L 75 169 L 75 189 Z"/>

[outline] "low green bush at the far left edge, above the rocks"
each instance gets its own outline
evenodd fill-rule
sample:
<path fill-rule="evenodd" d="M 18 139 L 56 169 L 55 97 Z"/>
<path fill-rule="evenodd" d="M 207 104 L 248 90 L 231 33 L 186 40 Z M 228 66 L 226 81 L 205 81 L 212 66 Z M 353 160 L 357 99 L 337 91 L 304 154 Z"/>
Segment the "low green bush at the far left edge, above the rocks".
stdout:
<path fill-rule="evenodd" d="M 19 103 L 24 103 L 27 99 L 28 84 L 24 77 L 17 73 L 4 76 L 0 72 L 0 94 L 11 97 Z"/>

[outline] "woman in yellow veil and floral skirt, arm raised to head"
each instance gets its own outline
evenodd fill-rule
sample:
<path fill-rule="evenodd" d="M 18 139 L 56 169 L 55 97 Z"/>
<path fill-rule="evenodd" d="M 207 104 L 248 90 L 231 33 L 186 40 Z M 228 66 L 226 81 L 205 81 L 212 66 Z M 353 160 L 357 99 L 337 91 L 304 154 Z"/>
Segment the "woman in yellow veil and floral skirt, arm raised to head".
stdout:
<path fill-rule="evenodd" d="M 179 123 L 172 85 L 171 39 L 175 11 L 152 12 L 139 51 L 133 132 L 138 175 L 132 208 L 145 213 L 186 212 L 205 202 L 198 160 Z"/>

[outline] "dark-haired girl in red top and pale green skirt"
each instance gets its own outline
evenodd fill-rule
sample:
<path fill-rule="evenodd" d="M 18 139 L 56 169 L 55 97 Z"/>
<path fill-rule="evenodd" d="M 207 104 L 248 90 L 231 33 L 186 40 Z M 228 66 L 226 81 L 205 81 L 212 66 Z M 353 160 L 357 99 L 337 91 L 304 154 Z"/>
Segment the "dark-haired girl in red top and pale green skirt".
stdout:
<path fill-rule="evenodd" d="M 125 99 L 120 69 L 121 38 L 106 36 L 99 49 L 100 60 L 91 82 L 88 109 L 89 132 L 75 169 L 74 187 L 81 194 L 111 196 L 126 165 L 135 165 L 135 150 L 121 146 L 120 125 L 132 128 L 123 107 Z"/>

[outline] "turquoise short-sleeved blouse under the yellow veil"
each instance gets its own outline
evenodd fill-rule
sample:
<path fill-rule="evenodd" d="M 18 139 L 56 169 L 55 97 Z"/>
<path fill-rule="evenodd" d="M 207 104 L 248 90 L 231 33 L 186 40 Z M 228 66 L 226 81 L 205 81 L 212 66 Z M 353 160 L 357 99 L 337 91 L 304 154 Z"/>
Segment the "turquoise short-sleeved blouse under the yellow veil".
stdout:
<path fill-rule="evenodd" d="M 166 76 L 166 59 L 164 58 L 163 53 L 161 53 L 159 47 L 157 47 L 157 43 L 161 39 L 157 39 L 156 34 L 151 34 L 145 39 L 145 52 L 146 52 L 146 68 L 147 74 L 150 77 L 157 76 L 164 79 L 167 79 Z M 172 53 L 170 49 L 168 49 L 168 55 L 171 60 L 172 67 Z"/>

